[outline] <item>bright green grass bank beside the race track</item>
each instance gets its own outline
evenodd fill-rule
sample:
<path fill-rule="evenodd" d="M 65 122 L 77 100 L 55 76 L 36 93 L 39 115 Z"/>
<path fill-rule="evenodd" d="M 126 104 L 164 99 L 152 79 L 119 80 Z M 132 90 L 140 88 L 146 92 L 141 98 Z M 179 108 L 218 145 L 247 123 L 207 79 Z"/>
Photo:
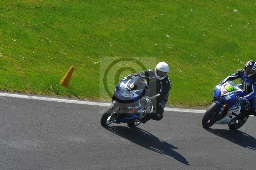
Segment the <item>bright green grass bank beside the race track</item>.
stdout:
<path fill-rule="evenodd" d="M 109 100 L 99 93 L 100 56 L 154 56 L 147 68 L 170 66 L 169 104 L 207 106 L 217 82 L 256 59 L 255 7 L 238 0 L 1 1 L 0 90 Z M 65 89 L 58 83 L 70 66 Z"/>

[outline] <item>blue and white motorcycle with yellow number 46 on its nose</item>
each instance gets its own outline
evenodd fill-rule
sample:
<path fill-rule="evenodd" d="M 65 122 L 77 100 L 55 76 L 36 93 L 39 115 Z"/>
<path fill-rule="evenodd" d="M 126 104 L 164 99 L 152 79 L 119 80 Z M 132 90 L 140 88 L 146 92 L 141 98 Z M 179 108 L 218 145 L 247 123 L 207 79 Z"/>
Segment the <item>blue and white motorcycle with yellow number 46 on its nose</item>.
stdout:
<path fill-rule="evenodd" d="M 250 103 L 239 103 L 238 98 L 245 96 L 244 91 L 232 81 L 215 86 L 213 104 L 206 110 L 202 125 L 209 128 L 213 124 L 228 124 L 229 129 L 241 128 L 251 112 Z"/>

